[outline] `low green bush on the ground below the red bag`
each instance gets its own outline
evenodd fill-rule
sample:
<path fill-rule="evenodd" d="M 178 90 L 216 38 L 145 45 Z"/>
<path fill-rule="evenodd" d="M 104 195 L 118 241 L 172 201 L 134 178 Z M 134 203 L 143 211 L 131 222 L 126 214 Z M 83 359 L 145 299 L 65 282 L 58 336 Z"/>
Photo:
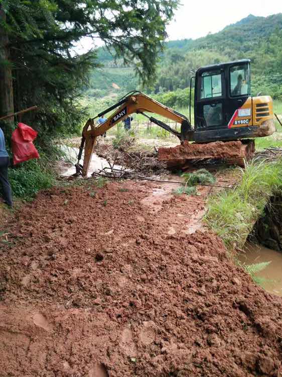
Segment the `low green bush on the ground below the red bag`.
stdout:
<path fill-rule="evenodd" d="M 15 197 L 32 200 L 42 189 L 49 189 L 55 181 L 36 160 L 25 162 L 20 167 L 9 169 L 9 181 Z"/>

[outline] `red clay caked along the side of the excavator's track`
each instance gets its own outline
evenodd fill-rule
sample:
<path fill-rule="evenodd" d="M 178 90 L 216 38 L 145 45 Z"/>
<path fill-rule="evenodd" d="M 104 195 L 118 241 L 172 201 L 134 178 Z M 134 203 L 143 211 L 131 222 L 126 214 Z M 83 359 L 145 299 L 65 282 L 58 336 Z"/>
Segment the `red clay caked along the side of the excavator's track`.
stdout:
<path fill-rule="evenodd" d="M 160 161 L 183 161 L 197 158 L 236 158 L 244 157 L 244 145 L 241 141 L 215 141 L 208 144 L 197 144 L 183 141 L 170 148 L 159 148 Z"/>

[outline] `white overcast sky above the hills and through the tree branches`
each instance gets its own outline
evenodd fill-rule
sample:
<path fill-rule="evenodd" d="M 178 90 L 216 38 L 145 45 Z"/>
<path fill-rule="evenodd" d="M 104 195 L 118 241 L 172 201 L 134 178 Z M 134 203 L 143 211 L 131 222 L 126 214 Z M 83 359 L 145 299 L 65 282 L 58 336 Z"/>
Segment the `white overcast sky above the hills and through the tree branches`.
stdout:
<path fill-rule="evenodd" d="M 167 27 L 168 40 L 204 37 L 249 14 L 266 17 L 282 13 L 282 0 L 182 0 L 181 3 Z M 92 43 L 90 38 L 83 38 L 74 50 L 86 52 Z M 103 43 L 95 39 L 95 44 L 101 46 Z"/>

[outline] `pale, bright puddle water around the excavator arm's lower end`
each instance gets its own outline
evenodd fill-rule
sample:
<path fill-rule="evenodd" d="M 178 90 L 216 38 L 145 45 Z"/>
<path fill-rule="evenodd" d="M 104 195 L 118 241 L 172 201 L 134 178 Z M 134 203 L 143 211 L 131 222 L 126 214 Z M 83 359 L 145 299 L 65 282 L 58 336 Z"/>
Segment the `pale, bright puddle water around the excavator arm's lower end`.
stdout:
<path fill-rule="evenodd" d="M 78 156 L 79 148 L 68 147 L 67 145 L 62 145 L 61 149 L 63 152 L 65 152 L 68 160 L 71 161 L 70 163 L 64 162 L 61 165 L 61 175 L 68 177 L 70 175 L 73 175 L 76 172 L 74 164 L 77 163 L 77 156 Z M 70 166 L 71 163 L 72 165 Z M 81 165 L 83 164 L 83 155 L 81 157 L 80 164 Z M 121 169 L 121 167 L 122 166 L 120 165 L 114 165 L 115 169 Z M 93 153 L 87 176 L 89 177 L 94 171 L 97 172 L 99 170 L 102 170 L 103 168 L 110 168 L 110 165 L 108 164 L 107 160 Z"/>

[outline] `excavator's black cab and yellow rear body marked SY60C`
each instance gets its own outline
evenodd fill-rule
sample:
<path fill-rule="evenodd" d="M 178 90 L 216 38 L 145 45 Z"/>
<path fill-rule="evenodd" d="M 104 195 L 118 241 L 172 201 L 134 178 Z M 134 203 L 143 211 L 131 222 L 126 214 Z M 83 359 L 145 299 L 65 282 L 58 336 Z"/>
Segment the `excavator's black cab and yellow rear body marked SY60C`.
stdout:
<path fill-rule="evenodd" d="M 273 133 L 271 97 L 251 97 L 249 59 L 209 65 L 197 70 L 194 120 L 194 141 L 198 143 Z M 257 135 L 261 133 L 262 122 L 265 135 Z"/>

